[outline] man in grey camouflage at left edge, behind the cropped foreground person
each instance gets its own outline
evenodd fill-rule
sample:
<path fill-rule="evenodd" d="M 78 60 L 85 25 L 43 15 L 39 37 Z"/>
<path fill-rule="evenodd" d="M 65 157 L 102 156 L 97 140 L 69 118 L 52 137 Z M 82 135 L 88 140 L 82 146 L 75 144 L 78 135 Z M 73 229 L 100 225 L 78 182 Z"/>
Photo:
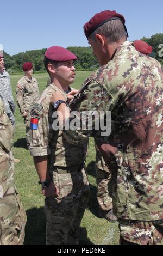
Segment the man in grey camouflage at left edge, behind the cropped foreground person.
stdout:
<path fill-rule="evenodd" d="M 8 118 L 11 121 L 11 124 L 15 129 L 15 117 L 14 112 L 16 105 L 14 103 L 14 98 L 12 95 L 10 76 L 4 67 L 4 58 L 3 55 L 0 56 L 0 97 L 3 100 L 5 113 L 8 115 Z M 14 158 L 14 163 L 19 163 L 19 159 Z"/>

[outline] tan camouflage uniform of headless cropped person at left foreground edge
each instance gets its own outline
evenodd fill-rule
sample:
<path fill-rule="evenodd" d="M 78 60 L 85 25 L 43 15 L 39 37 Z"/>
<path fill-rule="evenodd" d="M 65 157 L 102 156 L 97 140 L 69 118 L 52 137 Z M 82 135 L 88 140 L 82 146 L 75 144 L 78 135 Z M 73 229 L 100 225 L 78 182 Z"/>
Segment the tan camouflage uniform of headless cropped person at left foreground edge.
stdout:
<path fill-rule="evenodd" d="M 23 245 L 26 213 L 14 185 L 14 127 L 0 100 L 0 245 Z"/>

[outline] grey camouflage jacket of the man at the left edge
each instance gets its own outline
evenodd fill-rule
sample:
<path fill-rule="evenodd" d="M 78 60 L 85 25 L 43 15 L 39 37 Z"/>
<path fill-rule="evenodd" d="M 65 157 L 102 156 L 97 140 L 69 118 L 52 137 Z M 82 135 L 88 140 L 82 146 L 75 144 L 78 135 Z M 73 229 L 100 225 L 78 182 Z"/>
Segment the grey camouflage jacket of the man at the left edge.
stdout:
<path fill-rule="evenodd" d="M 6 71 L 0 73 L 0 97 L 4 103 L 5 113 L 14 113 L 16 105 L 12 96 L 10 76 Z"/>

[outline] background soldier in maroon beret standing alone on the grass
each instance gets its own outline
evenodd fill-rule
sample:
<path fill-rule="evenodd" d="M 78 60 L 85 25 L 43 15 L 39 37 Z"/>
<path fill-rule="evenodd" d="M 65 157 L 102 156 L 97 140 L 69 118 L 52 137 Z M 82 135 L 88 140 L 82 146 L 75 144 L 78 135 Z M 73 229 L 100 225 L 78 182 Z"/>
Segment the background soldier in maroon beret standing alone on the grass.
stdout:
<path fill-rule="evenodd" d="M 24 124 L 26 125 L 26 141 L 27 148 L 30 145 L 30 106 L 33 105 L 39 99 L 39 84 L 37 80 L 32 77 L 33 64 L 26 62 L 22 66 L 24 70 L 24 76 L 17 83 L 16 89 L 16 101 L 20 108 L 22 117 L 24 118 Z"/>

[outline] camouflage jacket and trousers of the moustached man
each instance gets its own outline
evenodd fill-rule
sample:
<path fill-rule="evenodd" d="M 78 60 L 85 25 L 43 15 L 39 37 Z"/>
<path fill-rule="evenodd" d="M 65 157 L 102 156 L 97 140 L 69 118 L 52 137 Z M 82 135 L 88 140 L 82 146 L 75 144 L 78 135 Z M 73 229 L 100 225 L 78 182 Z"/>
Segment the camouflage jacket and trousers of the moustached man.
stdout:
<path fill-rule="evenodd" d="M 80 146 L 73 145 L 66 141 L 62 131 L 53 130 L 56 119 L 52 117 L 54 110 L 50 99 L 57 90 L 51 84 L 32 106 L 31 117 L 37 119 L 38 127 L 30 133 L 30 154 L 34 157 L 48 155 L 48 172 L 59 188 L 57 198 L 45 199 L 46 244 L 77 245 L 79 225 L 89 199 L 84 167 L 87 140 Z"/>

